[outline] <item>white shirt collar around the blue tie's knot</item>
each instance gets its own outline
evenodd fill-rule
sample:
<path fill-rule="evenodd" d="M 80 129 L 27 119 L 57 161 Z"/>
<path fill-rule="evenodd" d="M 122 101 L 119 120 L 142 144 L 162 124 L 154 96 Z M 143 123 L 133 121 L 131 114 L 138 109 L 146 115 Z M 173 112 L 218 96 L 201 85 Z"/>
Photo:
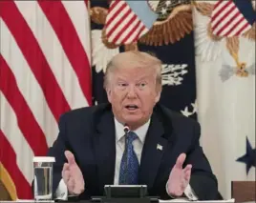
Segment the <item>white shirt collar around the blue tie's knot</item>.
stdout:
<path fill-rule="evenodd" d="M 139 136 L 139 140 L 141 143 L 144 143 L 145 141 L 149 124 L 150 124 L 150 119 L 144 125 L 140 126 L 136 131 L 133 131 Z M 116 127 L 116 142 L 118 142 L 124 136 L 124 131 L 123 131 L 123 125 L 117 121 L 116 117 L 115 117 L 115 127 Z"/>

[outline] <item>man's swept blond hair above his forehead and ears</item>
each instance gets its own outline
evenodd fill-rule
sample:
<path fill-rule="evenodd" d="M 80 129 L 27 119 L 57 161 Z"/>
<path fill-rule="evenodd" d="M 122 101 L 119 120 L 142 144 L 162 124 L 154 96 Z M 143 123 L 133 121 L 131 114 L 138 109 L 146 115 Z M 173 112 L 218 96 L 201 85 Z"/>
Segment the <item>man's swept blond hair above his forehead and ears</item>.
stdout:
<path fill-rule="evenodd" d="M 141 51 L 125 51 L 118 53 L 108 63 L 106 72 L 104 75 L 104 88 L 106 89 L 109 81 L 111 80 L 111 74 L 117 70 L 122 69 L 124 63 L 129 63 L 130 68 L 153 68 L 156 70 L 157 77 L 156 83 L 161 87 L 161 61 L 153 54 Z"/>

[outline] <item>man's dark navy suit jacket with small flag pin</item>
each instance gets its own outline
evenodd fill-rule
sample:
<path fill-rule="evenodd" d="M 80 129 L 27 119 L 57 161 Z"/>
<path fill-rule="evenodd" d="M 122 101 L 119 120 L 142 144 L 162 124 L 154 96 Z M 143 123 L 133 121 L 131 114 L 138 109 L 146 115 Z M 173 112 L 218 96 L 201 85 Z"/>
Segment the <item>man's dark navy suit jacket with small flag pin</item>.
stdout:
<path fill-rule="evenodd" d="M 142 149 L 139 184 L 148 187 L 148 193 L 170 198 L 166 182 L 181 152 L 187 157 L 184 166 L 192 164 L 190 186 L 200 199 L 218 198 L 215 175 L 200 146 L 200 125 L 195 120 L 172 112 L 160 105 L 154 108 Z M 110 104 L 82 108 L 63 114 L 59 134 L 48 155 L 54 156 L 53 191 L 61 180 L 61 171 L 67 162 L 64 152 L 75 154 L 75 161 L 83 173 L 85 192 L 80 199 L 103 195 L 104 185 L 114 184 L 116 137 L 114 115 Z M 162 150 L 157 149 L 157 145 Z"/>

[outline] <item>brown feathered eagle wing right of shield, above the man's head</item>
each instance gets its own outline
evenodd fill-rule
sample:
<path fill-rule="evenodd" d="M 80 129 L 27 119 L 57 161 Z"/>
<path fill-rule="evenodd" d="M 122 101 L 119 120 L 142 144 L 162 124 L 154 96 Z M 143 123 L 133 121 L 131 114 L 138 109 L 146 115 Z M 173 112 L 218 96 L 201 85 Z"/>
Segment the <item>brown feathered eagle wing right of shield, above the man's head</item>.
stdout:
<path fill-rule="evenodd" d="M 139 38 L 146 45 L 161 46 L 175 43 L 193 30 L 191 5 L 176 7 L 163 21 L 157 21 L 151 30 Z"/>

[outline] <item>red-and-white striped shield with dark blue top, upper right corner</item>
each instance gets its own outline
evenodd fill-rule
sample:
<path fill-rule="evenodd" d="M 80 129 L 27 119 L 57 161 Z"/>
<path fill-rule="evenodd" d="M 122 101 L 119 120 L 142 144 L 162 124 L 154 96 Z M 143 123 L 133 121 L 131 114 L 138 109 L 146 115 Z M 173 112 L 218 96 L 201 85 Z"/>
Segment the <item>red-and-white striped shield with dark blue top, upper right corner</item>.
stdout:
<path fill-rule="evenodd" d="M 254 17 L 250 17 L 251 5 L 249 4 L 251 4 L 249 0 L 219 0 L 211 16 L 213 33 L 218 36 L 231 37 L 250 30 Z"/>

